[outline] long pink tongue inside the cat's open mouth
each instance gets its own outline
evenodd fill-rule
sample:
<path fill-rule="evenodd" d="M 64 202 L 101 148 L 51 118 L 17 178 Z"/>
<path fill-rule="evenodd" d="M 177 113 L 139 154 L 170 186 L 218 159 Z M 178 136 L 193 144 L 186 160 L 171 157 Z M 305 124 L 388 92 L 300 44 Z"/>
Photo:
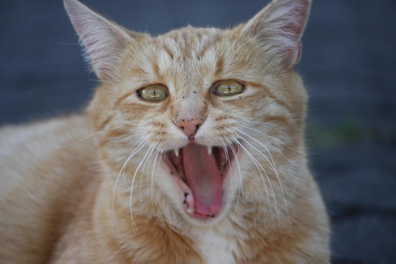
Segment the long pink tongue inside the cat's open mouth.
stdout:
<path fill-rule="evenodd" d="M 186 178 L 193 192 L 196 212 L 214 214 L 223 205 L 223 179 L 214 154 L 205 146 L 189 144 L 182 149 Z"/>

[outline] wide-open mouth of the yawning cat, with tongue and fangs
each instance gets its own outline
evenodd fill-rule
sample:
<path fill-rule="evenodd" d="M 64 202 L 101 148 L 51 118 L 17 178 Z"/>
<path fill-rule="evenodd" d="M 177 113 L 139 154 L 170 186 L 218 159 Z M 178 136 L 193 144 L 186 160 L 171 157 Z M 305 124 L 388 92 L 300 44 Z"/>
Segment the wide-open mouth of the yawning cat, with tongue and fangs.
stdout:
<path fill-rule="evenodd" d="M 188 144 L 166 152 L 164 164 L 180 189 L 183 208 L 193 218 L 217 216 L 223 208 L 224 180 L 238 155 L 232 147 Z"/>

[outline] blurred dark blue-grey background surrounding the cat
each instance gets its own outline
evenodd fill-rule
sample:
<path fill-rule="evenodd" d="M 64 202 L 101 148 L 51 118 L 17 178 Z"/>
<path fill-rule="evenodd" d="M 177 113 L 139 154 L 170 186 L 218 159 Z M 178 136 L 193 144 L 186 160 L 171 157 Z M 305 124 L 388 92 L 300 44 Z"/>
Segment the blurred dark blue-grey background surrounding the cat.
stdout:
<path fill-rule="evenodd" d="M 84 3 L 159 34 L 233 26 L 268 1 Z M 0 36 L 0 124 L 83 109 L 97 81 L 79 47 L 62 44 L 78 39 L 61 0 L 3 0 Z M 396 1 L 314 0 L 302 41 L 307 143 L 332 218 L 333 263 L 396 263 Z"/>

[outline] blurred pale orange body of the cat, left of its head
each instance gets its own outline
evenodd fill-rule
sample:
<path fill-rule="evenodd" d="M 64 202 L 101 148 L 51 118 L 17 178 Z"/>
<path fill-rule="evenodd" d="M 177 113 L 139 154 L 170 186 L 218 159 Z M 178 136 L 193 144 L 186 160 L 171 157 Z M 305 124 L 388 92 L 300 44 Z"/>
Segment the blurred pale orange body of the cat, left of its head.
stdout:
<path fill-rule="evenodd" d="M 0 128 L 1 263 L 43 263 L 52 254 L 100 181 L 91 135 L 82 115 Z M 9 243 L 15 237 L 17 248 Z"/>

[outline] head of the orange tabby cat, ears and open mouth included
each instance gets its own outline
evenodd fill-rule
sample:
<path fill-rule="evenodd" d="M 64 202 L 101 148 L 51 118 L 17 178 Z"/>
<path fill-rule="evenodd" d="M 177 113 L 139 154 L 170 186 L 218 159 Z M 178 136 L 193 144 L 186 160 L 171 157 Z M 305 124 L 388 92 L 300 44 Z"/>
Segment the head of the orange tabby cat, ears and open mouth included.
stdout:
<path fill-rule="evenodd" d="M 137 169 L 129 186 L 139 189 L 145 168 L 173 209 L 210 223 L 231 211 L 241 186 L 245 199 L 261 199 L 263 171 L 271 177 L 303 148 L 306 94 L 292 67 L 311 0 L 274 0 L 232 29 L 159 36 L 77 0 L 65 6 L 102 81 L 88 109 L 103 132 L 100 155 L 115 172 L 127 160 Z"/>

